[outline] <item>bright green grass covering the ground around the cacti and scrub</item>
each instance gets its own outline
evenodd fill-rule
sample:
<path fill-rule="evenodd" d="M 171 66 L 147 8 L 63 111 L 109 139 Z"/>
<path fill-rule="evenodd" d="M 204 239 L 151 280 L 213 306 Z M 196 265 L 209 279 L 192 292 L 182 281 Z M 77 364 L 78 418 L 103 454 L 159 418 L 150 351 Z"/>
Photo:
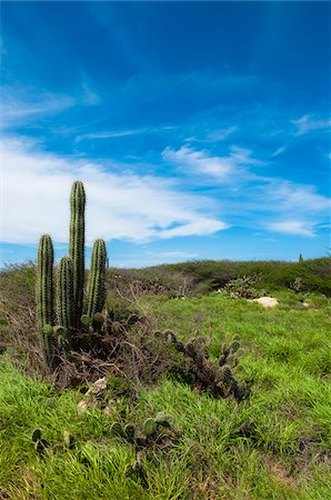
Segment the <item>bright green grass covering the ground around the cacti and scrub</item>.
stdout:
<path fill-rule="evenodd" d="M 81 392 L 27 379 L 0 357 L 0 498 L 331 498 L 331 300 L 312 294 L 305 308 L 292 292 L 274 296 L 280 306 L 273 310 L 221 294 L 150 297 L 142 304 L 161 329 L 181 339 L 205 336 L 214 357 L 223 340 L 240 336 L 238 378 L 252 383 L 250 398 L 240 403 L 163 379 L 141 388 L 134 402 L 117 400 L 108 414 L 80 412 Z M 134 449 L 111 436 L 111 424 L 139 424 L 161 410 L 172 416 L 178 438 L 143 453 L 146 481 L 127 477 Z M 49 443 L 43 452 L 31 441 L 34 429 Z M 74 436 L 74 447 L 66 448 L 66 432 Z"/>

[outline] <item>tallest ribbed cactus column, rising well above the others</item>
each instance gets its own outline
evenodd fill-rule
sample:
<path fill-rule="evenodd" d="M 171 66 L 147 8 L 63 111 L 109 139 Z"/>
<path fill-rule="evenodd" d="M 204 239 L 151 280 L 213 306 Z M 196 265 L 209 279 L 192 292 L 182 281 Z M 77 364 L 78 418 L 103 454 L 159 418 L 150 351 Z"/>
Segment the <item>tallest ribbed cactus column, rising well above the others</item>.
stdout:
<path fill-rule="evenodd" d="M 86 192 L 81 181 L 76 181 L 70 197 L 71 219 L 69 234 L 69 257 L 73 274 L 73 322 L 80 324 L 84 288 L 84 210 Z"/>

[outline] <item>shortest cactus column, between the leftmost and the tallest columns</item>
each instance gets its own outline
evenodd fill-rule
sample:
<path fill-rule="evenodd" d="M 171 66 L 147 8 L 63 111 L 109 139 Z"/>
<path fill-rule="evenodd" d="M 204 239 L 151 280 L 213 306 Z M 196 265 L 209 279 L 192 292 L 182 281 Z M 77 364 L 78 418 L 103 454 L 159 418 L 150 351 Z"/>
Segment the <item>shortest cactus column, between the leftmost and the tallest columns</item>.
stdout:
<path fill-rule="evenodd" d="M 62 257 L 58 267 L 57 313 L 59 326 L 73 328 L 73 271 L 69 257 Z"/>

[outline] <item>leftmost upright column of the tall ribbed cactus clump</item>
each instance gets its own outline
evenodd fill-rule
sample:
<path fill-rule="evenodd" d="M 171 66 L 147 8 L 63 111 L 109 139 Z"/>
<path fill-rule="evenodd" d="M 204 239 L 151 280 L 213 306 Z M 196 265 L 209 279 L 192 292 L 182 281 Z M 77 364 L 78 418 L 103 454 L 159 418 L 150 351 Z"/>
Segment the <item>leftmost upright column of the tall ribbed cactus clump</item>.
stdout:
<path fill-rule="evenodd" d="M 38 326 L 42 330 L 53 321 L 53 246 L 49 234 L 39 241 L 36 296 Z"/>

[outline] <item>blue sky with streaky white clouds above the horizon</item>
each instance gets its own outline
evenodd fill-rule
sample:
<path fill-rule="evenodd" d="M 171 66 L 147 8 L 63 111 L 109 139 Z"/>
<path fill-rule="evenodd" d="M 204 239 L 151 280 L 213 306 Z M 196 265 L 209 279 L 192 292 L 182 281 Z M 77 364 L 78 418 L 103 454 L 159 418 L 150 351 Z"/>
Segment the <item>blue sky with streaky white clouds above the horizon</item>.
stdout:
<path fill-rule="evenodd" d="M 330 249 L 329 2 L 2 2 L 1 257 L 113 266 Z"/>

